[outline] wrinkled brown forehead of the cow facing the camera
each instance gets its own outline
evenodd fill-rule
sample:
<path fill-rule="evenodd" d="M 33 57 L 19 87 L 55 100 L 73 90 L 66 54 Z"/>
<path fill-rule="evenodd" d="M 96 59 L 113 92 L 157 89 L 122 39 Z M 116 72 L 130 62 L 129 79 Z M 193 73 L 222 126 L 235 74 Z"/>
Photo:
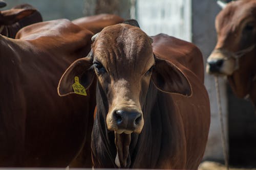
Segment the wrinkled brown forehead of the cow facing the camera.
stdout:
<path fill-rule="evenodd" d="M 94 60 L 115 76 L 142 75 L 154 64 L 150 38 L 138 27 L 120 23 L 104 28 L 92 45 Z"/>

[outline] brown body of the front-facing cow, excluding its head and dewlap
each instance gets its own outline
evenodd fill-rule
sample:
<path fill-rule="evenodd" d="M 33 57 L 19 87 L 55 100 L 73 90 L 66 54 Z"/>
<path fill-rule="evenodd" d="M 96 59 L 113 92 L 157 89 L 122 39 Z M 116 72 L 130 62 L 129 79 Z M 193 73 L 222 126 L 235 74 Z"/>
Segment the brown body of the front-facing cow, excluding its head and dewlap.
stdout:
<path fill-rule="evenodd" d="M 185 66 L 189 64 L 186 62 L 188 56 L 182 55 L 182 60 L 182 56 L 175 55 L 175 51 L 163 50 L 170 45 L 165 42 L 171 42 L 173 38 L 158 35 L 153 39 L 154 54 L 180 68 L 191 83 L 194 93 L 189 98 L 180 94 L 166 94 L 150 83 L 146 106 L 142 109 L 144 127 L 139 135 L 131 134 L 130 165 L 127 167 L 196 169 L 204 154 L 208 136 L 208 95 L 202 80 Z M 203 65 L 199 67 L 202 68 Z M 97 96 L 101 95 L 99 89 L 98 86 Z M 115 135 L 106 131 L 107 108 L 103 107 L 105 105 L 102 100 L 97 99 L 98 112 L 92 134 L 93 162 L 95 167 L 113 168 L 117 167 Z"/>

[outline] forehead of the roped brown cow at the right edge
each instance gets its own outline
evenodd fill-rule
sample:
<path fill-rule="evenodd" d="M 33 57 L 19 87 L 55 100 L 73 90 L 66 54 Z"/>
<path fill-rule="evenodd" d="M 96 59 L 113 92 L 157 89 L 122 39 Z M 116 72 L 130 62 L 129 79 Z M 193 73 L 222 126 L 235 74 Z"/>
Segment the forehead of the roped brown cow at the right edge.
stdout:
<path fill-rule="evenodd" d="M 249 19 L 255 13 L 256 1 L 244 0 L 229 3 L 216 18 L 217 29 L 238 28 L 242 21 Z M 230 27 L 226 27 L 227 25 Z"/>

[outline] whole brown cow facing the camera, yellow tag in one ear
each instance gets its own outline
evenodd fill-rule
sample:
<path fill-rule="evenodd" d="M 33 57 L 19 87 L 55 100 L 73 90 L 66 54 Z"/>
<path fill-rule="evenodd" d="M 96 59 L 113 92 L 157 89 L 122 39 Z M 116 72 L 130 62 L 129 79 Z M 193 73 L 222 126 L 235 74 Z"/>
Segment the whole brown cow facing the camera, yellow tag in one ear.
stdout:
<path fill-rule="evenodd" d="M 93 40 L 90 54 L 65 71 L 58 92 L 72 92 L 75 76 L 85 88 L 97 78 L 94 167 L 196 169 L 208 136 L 209 99 L 186 66 L 187 58 L 202 61 L 202 55 L 163 34 L 152 46 L 152 38 L 124 23 L 105 27 Z"/>

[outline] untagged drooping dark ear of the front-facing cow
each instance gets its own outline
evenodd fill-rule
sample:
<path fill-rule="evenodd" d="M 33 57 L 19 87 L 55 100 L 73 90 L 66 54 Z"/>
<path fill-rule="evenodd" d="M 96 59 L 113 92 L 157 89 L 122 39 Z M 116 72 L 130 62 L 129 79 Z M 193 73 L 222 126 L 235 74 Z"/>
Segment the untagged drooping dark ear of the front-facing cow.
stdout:
<path fill-rule="evenodd" d="M 155 57 L 152 80 L 157 89 L 167 93 L 191 95 L 191 86 L 182 71 L 169 61 Z"/>

